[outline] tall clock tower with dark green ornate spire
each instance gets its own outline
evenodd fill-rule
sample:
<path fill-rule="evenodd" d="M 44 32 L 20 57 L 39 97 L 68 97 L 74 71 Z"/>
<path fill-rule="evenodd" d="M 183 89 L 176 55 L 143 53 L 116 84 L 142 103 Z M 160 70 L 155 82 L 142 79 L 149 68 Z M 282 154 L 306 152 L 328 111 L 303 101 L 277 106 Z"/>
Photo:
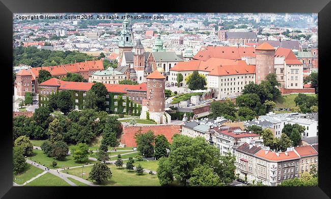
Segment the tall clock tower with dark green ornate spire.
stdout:
<path fill-rule="evenodd" d="M 122 31 L 121 31 L 121 41 L 118 45 L 119 48 L 119 60 L 118 65 L 122 63 L 124 52 L 132 52 L 133 43 L 132 43 L 132 32 L 130 31 L 129 21 L 124 19 Z"/>

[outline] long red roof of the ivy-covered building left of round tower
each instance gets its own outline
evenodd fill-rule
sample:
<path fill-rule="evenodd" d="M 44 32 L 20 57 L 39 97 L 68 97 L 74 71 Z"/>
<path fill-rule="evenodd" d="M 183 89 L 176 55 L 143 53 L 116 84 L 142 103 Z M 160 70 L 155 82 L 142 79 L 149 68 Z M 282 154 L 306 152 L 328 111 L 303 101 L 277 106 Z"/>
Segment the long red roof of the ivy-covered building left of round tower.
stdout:
<path fill-rule="evenodd" d="M 91 82 L 66 82 L 52 78 L 40 84 L 40 86 L 60 86 L 59 90 L 83 90 L 88 91 L 94 83 Z M 138 85 L 104 84 L 108 92 L 126 93 L 127 90 L 147 91 L 146 83 Z"/>

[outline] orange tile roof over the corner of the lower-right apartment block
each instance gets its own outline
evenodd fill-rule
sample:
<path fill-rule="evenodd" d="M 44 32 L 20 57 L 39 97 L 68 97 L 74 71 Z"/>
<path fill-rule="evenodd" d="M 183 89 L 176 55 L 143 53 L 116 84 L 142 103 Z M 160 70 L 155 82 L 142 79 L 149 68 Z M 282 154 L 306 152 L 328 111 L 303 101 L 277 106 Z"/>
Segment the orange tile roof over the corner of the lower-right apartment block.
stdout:
<path fill-rule="evenodd" d="M 265 152 L 268 152 L 268 153 L 265 154 Z M 279 153 L 279 155 L 277 155 L 276 152 L 260 150 L 255 155 L 257 157 L 260 157 L 260 158 L 263 158 L 265 160 L 272 161 L 272 162 L 280 162 L 280 161 L 294 160 L 294 159 L 300 158 L 294 151 L 287 152 L 287 155 L 286 155 L 286 152 L 282 152 L 282 153 Z"/>

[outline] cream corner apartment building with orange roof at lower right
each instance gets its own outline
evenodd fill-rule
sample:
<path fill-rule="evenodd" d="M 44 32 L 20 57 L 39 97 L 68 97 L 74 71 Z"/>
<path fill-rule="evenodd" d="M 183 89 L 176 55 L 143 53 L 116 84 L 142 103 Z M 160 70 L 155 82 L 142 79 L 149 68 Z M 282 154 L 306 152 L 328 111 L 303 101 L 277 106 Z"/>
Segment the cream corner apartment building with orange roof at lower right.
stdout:
<path fill-rule="evenodd" d="M 249 183 L 254 180 L 268 186 L 298 178 L 300 173 L 309 172 L 313 164 L 318 166 L 318 153 L 311 145 L 288 147 L 286 152 L 273 152 L 269 147 L 243 143 L 235 148 L 235 156 L 236 173 L 240 178 L 246 176 Z"/>

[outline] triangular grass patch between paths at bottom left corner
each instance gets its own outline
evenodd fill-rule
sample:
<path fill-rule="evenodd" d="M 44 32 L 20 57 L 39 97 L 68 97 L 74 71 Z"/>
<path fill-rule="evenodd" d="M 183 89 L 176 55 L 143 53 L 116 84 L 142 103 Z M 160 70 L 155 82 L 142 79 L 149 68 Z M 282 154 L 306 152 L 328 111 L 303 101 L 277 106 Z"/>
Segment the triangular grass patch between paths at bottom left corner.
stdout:
<path fill-rule="evenodd" d="M 51 173 L 45 173 L 41 177 L 33 180 L 25 186 L 70 186 L 66 181 L 61 178 L 52 175 Z"/>

